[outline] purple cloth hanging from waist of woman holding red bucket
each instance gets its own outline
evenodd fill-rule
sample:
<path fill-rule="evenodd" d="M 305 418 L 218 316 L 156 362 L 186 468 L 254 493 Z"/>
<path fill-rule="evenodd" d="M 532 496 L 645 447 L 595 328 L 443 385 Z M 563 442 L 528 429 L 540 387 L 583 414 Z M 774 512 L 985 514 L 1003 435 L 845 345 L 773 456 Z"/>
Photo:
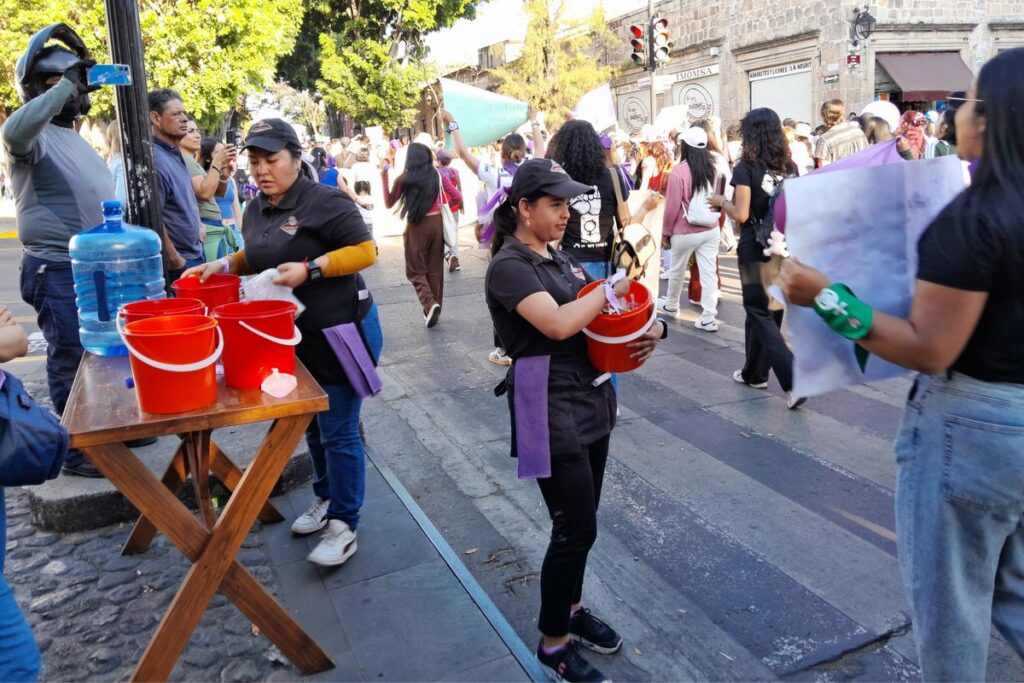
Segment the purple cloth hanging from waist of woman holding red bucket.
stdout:
<path fill-rule="evenodd" d="M 516 358 L 513 372 L 515 450 L 519 478 L 551 476 L 551 432 L 548 428 L 548 371 L 550 355 Z"/>

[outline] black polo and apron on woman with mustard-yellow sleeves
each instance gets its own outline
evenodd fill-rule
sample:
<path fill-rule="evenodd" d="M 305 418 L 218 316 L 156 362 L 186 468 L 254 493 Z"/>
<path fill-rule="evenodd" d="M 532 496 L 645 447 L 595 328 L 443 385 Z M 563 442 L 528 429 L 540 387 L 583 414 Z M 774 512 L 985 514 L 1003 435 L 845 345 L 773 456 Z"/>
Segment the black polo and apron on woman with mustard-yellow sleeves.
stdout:
<path fill-rule="evenodd" d="M 311 261 L 373 239 L 351 198 L 305 176 L 295 181 L 276 206 L 262 195 L 250 202 L 243 224 L 246 261 L 253 272 L 282 263 Z M 296 319 L 302 332 L 296 351 L 321 384 L 348 383 L 323 330 L 360 319 L 372 303 L 366 289 L 358 273 L 306 281 L 295 288 L 295 296 L 306 306 Z M 360 291 L 365 292 L 361 300 Z"/>

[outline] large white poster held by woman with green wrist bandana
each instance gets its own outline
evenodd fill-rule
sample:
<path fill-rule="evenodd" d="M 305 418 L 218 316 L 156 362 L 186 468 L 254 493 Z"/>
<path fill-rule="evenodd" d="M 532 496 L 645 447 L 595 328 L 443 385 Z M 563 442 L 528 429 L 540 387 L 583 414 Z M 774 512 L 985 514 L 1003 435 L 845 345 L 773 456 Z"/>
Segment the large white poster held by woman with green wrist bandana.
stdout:
<path fill-rule="evenodd" d="M 965 186 L 955 157 L 914 161 L 785 181 L 790 253 L 844 283 L 874 310 L 908 317 L 918 272 L 918 241 Z M 822 201 L 822 198 L 828 198 Z M 811 308 L 786 316 L 798 396 L 897 377 L 906 370 L 870 356 L 861 373 L 853 342 Z"/>

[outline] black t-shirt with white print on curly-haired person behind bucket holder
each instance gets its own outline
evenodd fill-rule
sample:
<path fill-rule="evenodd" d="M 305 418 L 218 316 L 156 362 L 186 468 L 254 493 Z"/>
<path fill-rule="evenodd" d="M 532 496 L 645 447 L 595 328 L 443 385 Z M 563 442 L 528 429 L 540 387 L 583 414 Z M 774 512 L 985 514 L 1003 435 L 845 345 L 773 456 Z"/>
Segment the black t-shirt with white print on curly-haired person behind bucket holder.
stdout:
<path fill-rule="evenodd" d="M 623 201 L 630 189 L 620 172 L 618 186 Z M 611 184 L 611 169 L 607 169 L 594 189 L 569 200 L 569 221 L 562 236 L 562 251 L 578 261 L 608 261 L 611 259 L 611 227 L 615 219 L 615 188 Z M 622 226 L 620 226 L 622 227 Z"/>

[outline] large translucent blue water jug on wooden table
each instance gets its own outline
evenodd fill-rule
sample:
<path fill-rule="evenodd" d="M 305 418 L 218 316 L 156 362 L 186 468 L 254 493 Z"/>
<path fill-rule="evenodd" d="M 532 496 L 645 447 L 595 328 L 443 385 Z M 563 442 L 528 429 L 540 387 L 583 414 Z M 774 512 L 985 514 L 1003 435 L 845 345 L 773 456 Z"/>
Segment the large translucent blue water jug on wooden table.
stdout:
<path fill-rule="evenodd" d="M 71 239 L 79 335 L 97 355 L 127 355 L 117 330 L 122 305 L 160 299 L 164 263 L 160 238 L 121 220 L 121 202 L 103 202 L 103 223 Z"/>

